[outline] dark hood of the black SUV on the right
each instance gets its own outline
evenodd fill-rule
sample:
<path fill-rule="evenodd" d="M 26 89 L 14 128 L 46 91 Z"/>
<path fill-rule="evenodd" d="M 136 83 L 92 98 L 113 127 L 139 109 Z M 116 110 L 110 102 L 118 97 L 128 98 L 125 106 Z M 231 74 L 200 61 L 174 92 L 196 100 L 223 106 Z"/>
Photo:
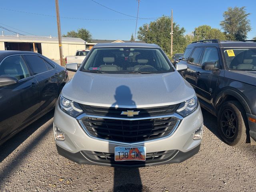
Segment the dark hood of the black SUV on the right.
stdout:
<path fill-rule="evenodd" d="M 224 76 L 229 79 L 256 86 L 256 71 L 225 71 Z"/>

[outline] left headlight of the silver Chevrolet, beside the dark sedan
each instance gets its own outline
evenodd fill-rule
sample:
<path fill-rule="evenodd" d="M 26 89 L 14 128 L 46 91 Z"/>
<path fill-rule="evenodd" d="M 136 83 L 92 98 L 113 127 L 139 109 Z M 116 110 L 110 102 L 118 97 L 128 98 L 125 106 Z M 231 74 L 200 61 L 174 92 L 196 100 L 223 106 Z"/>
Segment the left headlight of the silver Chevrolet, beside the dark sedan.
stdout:
<path fill-rule="evenodd" d="M 78 103 L 70 101 L 64 98 L 62 95 L 60 95 L 59 105 L 64 112 L 66 112 L 74 118 L 83 113 L 83 110 L 81 109 Z"/>

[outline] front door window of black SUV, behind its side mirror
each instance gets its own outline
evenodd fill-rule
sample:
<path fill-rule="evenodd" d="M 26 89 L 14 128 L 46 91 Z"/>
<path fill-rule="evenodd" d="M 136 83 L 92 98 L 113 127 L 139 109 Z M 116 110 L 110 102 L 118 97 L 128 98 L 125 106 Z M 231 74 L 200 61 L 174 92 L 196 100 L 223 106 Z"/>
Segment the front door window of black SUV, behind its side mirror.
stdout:
<path fill-rule="evenodd" d="M 219 64 L 218 50 L 215 47 L 206 47 L 202 57 L 201 65 L 205 62 L 214 63 L 215 67 Z"/>

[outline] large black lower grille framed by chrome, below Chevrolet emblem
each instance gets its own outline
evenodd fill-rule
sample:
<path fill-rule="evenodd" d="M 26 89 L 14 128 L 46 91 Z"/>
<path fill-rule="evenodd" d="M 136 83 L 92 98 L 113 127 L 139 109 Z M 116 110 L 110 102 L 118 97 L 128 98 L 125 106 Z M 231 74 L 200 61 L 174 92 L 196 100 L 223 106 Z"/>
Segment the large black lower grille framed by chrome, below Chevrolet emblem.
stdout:
<path fill-rule="evenodd" d="M 118 142 L 142 142 L 168 136 L 180 120 L 174 116 L 140 120 L 119 120 L 85 116 L 83 128 L 96 138 Z"/>

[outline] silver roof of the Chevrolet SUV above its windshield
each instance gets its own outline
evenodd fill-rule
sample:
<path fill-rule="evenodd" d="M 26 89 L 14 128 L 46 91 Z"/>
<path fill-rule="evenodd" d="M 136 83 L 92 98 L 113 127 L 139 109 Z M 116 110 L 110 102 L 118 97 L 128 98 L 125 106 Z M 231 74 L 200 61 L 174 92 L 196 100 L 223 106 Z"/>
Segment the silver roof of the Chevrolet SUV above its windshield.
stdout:
<path fill-rule="evenodd" d="M 98 43 L 94 47 L 151 47 L 159 48 L 156 44 L 147 44 L 147 43 Z"/>

